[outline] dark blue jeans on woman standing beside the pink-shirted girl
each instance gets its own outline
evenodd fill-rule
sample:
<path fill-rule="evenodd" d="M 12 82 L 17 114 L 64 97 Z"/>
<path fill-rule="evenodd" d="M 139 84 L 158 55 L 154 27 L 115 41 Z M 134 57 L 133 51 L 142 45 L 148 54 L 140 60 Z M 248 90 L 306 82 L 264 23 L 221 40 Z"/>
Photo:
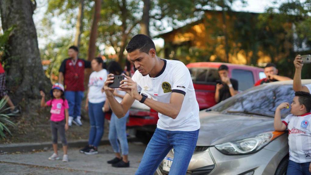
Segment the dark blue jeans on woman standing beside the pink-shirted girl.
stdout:
<path fill-rule="evenodd" d="M 98 146 L 101 137 L 104 134 L 104 119 L 105 115 L 102 110 L 105 102 L 90 103 L 89 102 L 89 118 L 90 118 L 90 136 L 89 145 Z"/>

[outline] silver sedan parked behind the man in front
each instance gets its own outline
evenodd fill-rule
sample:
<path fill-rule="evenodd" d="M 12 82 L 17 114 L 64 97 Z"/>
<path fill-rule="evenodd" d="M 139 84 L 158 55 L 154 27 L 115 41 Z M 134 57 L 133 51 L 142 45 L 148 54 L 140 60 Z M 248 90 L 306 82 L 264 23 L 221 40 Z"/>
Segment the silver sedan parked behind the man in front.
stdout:
<path fill-rule="evenodd" d="M 253 87 L 200 111 L 201 128 L 187 174 L 285 174 L 288 134 L 274 131 L 273 117 L 280 103 L 292 102 L 292 83 L 278 81 Z M 282 118 L 289 113 L 290 109 L 283 110 Z M 173 159 L 174 149 L 156 173 L 168 174 Z"/>

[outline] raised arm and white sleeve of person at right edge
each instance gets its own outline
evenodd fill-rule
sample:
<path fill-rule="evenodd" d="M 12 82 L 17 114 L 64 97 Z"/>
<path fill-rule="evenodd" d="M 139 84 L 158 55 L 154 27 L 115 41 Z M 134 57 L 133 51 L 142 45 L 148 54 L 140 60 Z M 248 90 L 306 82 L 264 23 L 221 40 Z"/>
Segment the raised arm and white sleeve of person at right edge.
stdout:
<path fill-rule="evenodd" d="M 297 55 L 294 60 L 295 65 L 295 75 L 294 75 L 294 82 L 293 82 L 293 89 L 297 91 L 304 91 L 311 93 L 311 84 L 302 85 L 301 84 L 301 70 L 304 64 L 301 63 L 301 55 Z"/>

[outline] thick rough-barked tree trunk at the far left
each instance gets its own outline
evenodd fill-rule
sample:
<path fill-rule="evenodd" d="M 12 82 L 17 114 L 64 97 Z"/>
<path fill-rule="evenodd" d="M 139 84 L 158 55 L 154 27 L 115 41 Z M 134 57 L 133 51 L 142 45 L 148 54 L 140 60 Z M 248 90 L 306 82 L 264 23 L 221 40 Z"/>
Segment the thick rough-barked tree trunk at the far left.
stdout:
<path fill-rule="evenodd" d="M 0 0 L 3 30 L 15 25 L 8 41 L 9 54 L 3 58 L 9 67 L 7 89 L 13 103 L 25 104 L 26 109 L 30 99 L 39 97 L 39 90 L 45 89 L 47 92 L 51 88 L 42 68 L 37 32 L 32 19 L 35 7 L 35 1 L 31 0 Z"/>

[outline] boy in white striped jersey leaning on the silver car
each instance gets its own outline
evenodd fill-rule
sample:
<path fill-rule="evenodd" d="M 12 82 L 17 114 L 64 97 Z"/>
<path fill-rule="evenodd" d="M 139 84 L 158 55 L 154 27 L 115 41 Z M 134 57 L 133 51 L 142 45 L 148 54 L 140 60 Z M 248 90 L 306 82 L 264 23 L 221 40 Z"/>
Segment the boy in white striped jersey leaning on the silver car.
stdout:
<path fill-rule="evenodd" d="M 281 110 L 289 108 L 290 115 L 281 121 Z M 287 174 L 311 175 L 311 94 L 303 91 L 295 93 L 292 104 L 281 103 L 275 111 L 274 129 L 288 129 L 290 160 Z"/>

